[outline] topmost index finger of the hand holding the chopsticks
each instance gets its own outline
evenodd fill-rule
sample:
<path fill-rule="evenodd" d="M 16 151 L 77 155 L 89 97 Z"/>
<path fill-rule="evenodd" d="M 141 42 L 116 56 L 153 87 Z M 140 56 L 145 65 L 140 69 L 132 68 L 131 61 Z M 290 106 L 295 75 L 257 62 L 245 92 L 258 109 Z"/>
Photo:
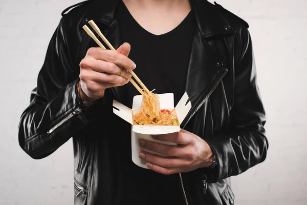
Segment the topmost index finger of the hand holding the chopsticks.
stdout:
<path fill-rule="evenodd" d="M 124 50 L 123 52 L 127 54 L 126 50 Z M 107 61 L 107 62 L 116 64 L 128 70 L 133 70 L 136 68 L 135 63 L 131 59 L 129 59 L 127 56 L 121 53 L 118 53 L 116 51 L 103 50 L 101 48 L 90 48 L 89 50 L 87 50 L 86 55 L 92 56 L 97 60 L 103 60 L 103 61 Z"/>

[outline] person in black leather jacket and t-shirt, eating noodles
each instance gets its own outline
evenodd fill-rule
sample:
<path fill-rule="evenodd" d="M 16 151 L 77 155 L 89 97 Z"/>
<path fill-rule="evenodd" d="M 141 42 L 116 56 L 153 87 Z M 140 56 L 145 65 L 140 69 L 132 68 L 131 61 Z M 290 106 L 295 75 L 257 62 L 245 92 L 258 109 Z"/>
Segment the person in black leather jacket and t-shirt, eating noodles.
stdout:
<path fill-rule="evenodd" d="M 75 204 L 234 204 L 229 177 L 268 149 L 248 24 L 205 0 L 86 1 L 62 15 L 21 148 L 40 159 L 73 138 Z M 91 19 L 117 51 L 97 48 L 82 29 Z M 166 155 L 140 152 L 149 169 L 131 161 L 130 125 L 113 113 L 138 94 L 129 69 L 192 104 L 179 133 L 153 136 L 179 146 L 139 142 Z"/>

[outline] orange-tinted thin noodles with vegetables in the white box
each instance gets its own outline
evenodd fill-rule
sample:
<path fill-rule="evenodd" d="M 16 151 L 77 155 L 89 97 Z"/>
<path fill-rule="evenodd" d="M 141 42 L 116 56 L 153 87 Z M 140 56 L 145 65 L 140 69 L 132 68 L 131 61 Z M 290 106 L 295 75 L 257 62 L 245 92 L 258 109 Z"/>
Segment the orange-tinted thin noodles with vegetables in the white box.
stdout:
<path fill-rule="evenodd" d="M 179 126 L 175 109 L 161 110 L 159 96 L 152 92 L 144 92 L 140 111 L 133 114 L 133 122 L 134 125 Z"/>

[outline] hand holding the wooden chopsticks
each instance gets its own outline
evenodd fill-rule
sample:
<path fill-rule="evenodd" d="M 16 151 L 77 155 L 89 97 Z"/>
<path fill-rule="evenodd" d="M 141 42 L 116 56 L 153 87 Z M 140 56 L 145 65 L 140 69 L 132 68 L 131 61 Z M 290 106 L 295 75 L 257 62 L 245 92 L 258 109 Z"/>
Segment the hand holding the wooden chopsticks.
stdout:
<path fill-rule="evenodd" d="M 127 70 L 136 68 L 127 56 L 128 43 L 117 51 L 90 48 L 80 62 L 81 92 L 87 101 L 95 101 L 104 95 L 106 88 L 123 86 L 129 82 L 131 74 Z"/>

